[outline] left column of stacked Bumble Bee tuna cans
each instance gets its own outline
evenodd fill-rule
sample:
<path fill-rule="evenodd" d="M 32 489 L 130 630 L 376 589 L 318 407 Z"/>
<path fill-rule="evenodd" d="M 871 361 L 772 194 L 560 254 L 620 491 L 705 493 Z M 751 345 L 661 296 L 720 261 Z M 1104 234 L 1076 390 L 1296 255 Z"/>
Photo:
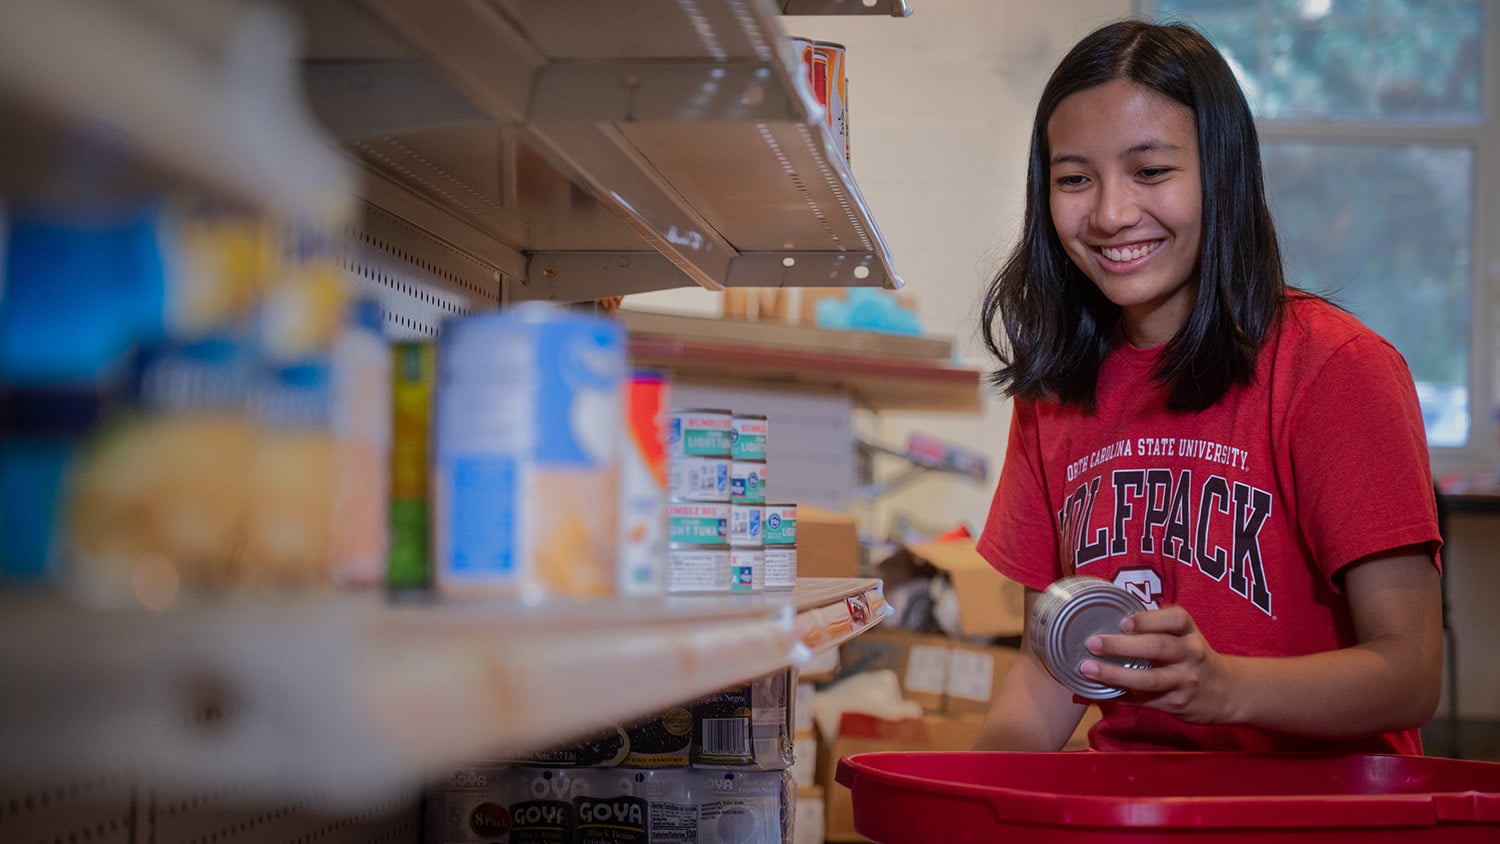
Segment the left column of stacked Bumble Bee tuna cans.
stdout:
<path fill-rule="evenodd" d="M 730 411 L 674 408 L 668 426 L 668 592 L 730 591 Z"/>

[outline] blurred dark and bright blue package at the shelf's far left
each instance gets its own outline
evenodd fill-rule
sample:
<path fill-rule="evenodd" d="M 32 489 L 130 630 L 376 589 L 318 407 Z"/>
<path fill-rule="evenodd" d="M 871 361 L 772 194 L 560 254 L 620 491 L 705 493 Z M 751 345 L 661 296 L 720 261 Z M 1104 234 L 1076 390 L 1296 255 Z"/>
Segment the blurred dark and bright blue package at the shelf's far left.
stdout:
<path fill-rule="evenodd" d="M 0 255 L 0 580 L 70 556 L 60 513 L 80 448 L 164 334 L 159 205 L 9 210 Z"/>

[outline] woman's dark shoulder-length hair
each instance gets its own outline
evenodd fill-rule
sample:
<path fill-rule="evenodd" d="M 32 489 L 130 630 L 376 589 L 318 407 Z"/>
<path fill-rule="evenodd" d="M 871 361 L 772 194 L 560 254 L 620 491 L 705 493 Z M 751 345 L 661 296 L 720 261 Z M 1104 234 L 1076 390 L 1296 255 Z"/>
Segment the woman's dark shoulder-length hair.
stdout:
<path fill-rule="evenodd" d="M 1203 178 L 1203 247 L 1192 313 L 1164 349 L 1167 406 L 1200 411 L 1248 384 L 1286 300 L 1281 250 L 1266 205 L 1260 139 L 1222 55 L 1191 27 L 1119 21 L 1080 40 L 1053 70 L 1032 123 L 1020 243 L 990 282 L 984 345 L 1006 396 L 1095 408 L 1100 366 L 1120 309 L 1064 252 L 1048 202 L 1047 123 L 1070 94 L 1125 79 L 1192 111 Z"/>

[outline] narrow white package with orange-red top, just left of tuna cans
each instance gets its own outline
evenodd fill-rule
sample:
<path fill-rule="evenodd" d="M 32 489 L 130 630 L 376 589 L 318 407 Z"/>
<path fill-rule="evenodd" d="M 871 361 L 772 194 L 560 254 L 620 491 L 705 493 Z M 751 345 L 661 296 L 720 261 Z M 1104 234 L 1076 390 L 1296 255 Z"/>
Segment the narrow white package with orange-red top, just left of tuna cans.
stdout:
<path fill-rule="evenodd" d="M 626 387 L 620 454 L 620 594 L 666 591 L 668 376 L 634 370 Z"/>

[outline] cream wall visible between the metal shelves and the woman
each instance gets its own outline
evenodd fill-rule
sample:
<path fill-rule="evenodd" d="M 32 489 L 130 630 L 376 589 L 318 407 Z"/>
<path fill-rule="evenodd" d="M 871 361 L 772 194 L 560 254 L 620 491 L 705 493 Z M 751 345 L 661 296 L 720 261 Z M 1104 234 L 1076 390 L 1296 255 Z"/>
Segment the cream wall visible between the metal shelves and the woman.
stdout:
<path fill-rule="evenodd" d="M 1128 15 L 1131 0 L 921 0 L 904 19 L 788 16 L 789 34 L 848 48 L 850 166 L 924 331 L 956 340 L 964 366 L 987 369 L 978 307 L 1020 228 L 1026 148 L 1036 96 L 1052 66 L 1095 25 Z M 627 307 L 718 313 L 700 289 L 627 297 Z M 861 513 L 882 532 L 902 510 L 938 525 L 984 522 L 998 477 L 1008 402 L 984 414 L 882 414 L 860 430 L 902 447 L 909 430 L 982 450 L 992 478 L 927 477 Z M 891 468 L 894 469 L 894 466 Z"/>

